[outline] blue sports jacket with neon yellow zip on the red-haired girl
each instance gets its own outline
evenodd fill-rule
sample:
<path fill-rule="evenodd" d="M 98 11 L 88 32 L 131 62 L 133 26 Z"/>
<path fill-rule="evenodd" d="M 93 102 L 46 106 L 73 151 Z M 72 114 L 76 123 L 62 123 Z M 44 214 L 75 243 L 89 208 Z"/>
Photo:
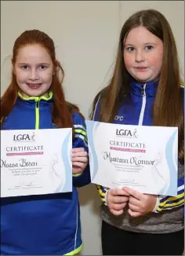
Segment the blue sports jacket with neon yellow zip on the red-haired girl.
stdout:
<path fill-rule="evenodd" d="M 55 129 L 52 123 L 53 93 L 49 97 L 24 98 L 19 93 L 3 130 Z M 73 148 L 88 152 L 85 121 L 77 112 Z M 73 177 L 73 191 L 39 196 L 1 198 L 1 255 L 73 255 L 81 251 L 81 223 L 75 187 L 89 184 L 89 166 Z"/>

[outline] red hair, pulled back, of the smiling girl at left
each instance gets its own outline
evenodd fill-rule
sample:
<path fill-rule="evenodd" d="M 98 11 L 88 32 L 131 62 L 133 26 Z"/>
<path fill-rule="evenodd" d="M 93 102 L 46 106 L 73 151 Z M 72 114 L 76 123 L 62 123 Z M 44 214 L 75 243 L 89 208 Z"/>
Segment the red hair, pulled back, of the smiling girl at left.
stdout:
<path fill-rule="evenodd" d="M 56 60 L 55 46 L 52 38 L 49 38 L 49 35 L 46 35 L 42 31 L 24 31 L 18 38 L 16 38 L 16 41 L 14 43 L 12 64 L 13 66 L 15 65 L 16 56 L 20 48 L 32 44 L 38 44 L 44 47 L 48 51 L 51 59 L 53 60 L 53 65 L 55 67 L 53 82 L 50 87 L 50 90 L 53 92 L 53 123 L 55 123 L 57 127 L 72 127 L 74 131 L 71 113 L 74 111 L 79 112 L 79 109 L 74 104 L 65 101 L 62 87 L 64 71 L 60 62 Z M 62 75 L 61 79 L 60 75 Z M 16 103 L 18 90 L 19 87 L 16 83 L 16 75 L 13 73 L 12 70 L 12 79 L 9 84 L 9 87 L 7 90 L 5 90 L 5 93 L 1 97 L 2 123 L 7 117 L 7 115 L 9 115 L 9 112 L 11 112 L 14 104 Z"/>

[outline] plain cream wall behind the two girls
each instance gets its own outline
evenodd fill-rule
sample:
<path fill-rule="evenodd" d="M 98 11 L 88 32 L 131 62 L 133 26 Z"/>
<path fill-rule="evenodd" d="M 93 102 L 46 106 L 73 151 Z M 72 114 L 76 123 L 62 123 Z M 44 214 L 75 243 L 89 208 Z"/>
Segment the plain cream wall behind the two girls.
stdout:
<path fill-rule="evenodd" d="M 88 118 L 93 97 L 110 77 L 111 64 L 124 21 L 135 11 L 154 8 L 165 14 L 176 37 L 184 70 L 183 1 L 2 1 L 1 90 L 10 79 L 13 42 L 27 29 L 45 31 L 56 42 L 57 57 L 66 72 L 67 100 Z M 8 57 L 8 58 L 7 58 Z M 100 198 L 95 185 L 80 188 L 84 255 L 100 255 Z"/>

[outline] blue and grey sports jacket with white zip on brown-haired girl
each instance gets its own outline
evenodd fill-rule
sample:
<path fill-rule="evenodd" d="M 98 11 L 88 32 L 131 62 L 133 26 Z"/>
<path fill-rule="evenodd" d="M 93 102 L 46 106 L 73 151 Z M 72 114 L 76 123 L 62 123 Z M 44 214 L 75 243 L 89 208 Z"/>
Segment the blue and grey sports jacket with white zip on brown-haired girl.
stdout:
<path fill-rule="evenodd" d="M 152 126 L 152 106 L 158 89 L 158 82 L 141 84 L 132 80 L 129 97 L 124 97 L 121 107 L 114 116 L 113 123 L 124 125 Z M 180 85 L 182 104 L 184 111 L 184 84 Z M 100 95 L 101 97 L 101 95 Z M 100 97 L 96 103 L 93 120 L 100 121 Z M 141 218 L 129 218 L 129 216 L 115 217 L 107 207 L 107 191 L 101 185 L 97 185 L 100 198 L 103 202 L 100 216 L 119 229 L 132 232 L 165 233 L 183 229 L 183 205 L 184 205 L 184 165 L 178 166 L 178 194 L 177 196 L 158 196 L 153 213 Z"/>

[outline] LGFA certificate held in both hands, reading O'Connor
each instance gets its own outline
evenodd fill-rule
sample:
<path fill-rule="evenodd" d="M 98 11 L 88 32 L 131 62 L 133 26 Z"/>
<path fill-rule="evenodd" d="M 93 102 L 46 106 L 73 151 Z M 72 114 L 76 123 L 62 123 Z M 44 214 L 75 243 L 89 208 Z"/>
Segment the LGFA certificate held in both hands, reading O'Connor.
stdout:
<path fill-rule="evenodd" d="M 178 129 L 86 121 L 92 182 L 177 195 Z"/>

